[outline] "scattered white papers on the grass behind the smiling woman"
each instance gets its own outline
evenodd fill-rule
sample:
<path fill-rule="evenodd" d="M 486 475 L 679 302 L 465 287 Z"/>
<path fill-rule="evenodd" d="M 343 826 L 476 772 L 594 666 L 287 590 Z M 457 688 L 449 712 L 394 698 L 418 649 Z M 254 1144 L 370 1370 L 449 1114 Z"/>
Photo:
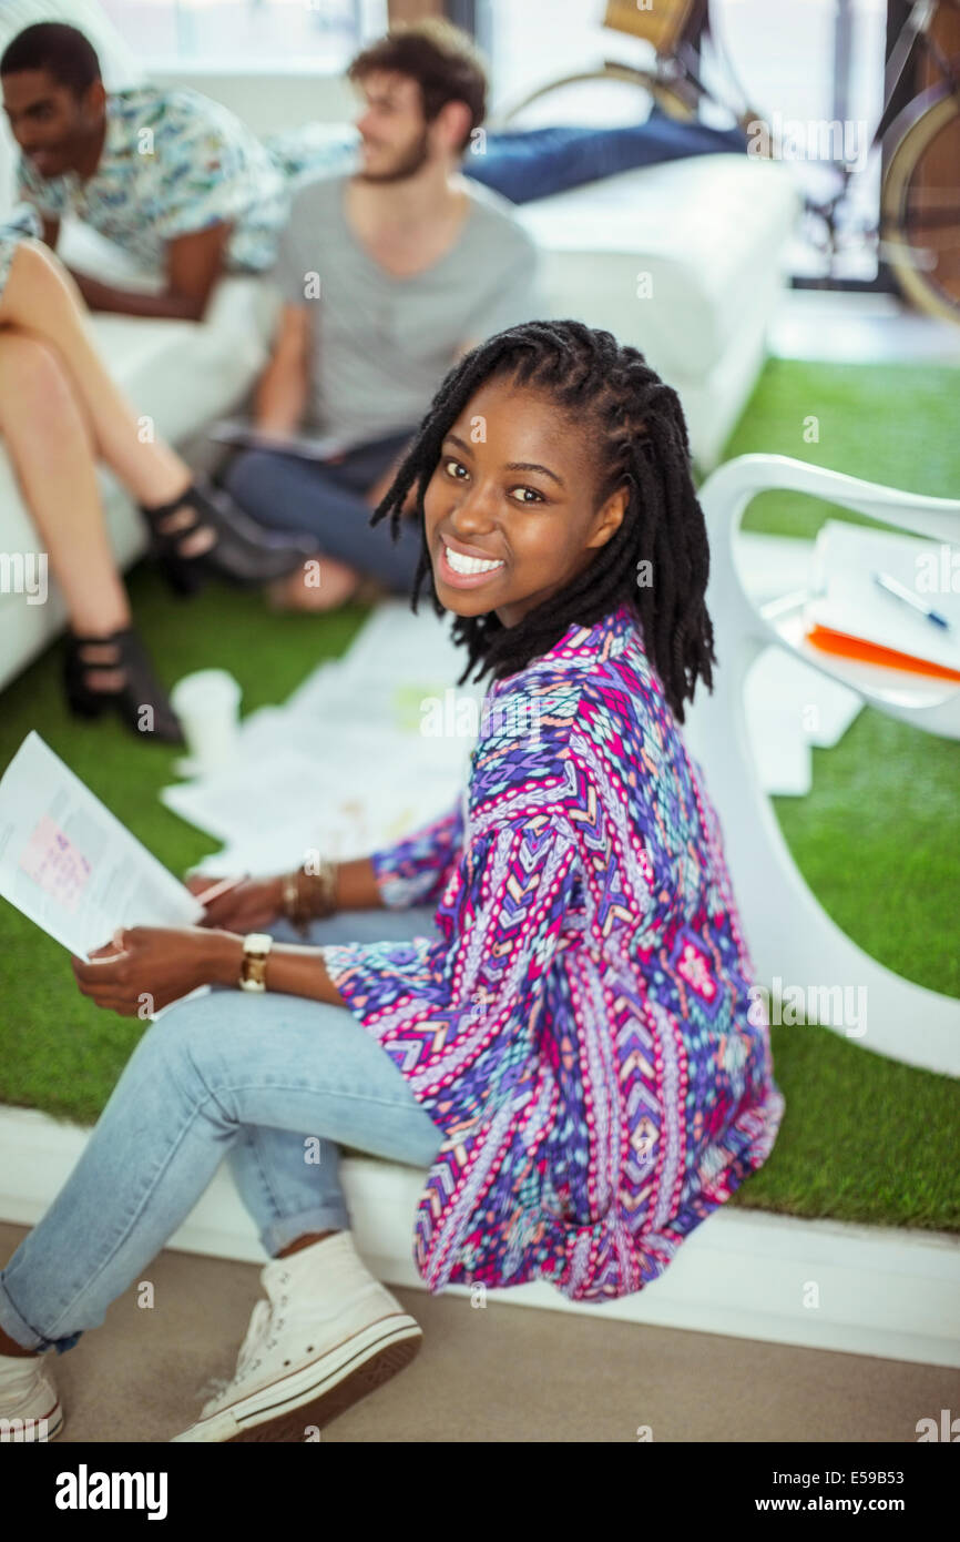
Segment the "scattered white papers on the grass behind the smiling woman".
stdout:
<path fill-rule="evenodd" d="M 163 788 L 168 808 L 225 842 L 194 871 L 270 874 L 308 850 L 365 856 L 447 813 L 487 691 L 455 685 L 464 657 L 447 621 L 384 604 L 344 658 L 242 722 L 228 771 Z"/>

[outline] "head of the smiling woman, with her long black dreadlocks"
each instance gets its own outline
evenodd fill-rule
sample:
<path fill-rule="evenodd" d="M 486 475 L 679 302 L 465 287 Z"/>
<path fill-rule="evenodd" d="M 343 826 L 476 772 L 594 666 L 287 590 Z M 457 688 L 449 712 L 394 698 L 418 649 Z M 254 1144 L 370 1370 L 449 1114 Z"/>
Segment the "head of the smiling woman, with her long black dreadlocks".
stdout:
<path fill-rule="evenodd" d="M 415 608 L 433 564 L 435 608 L 458 614 L 470 651 L 464 677 L 481 660 L 521 668 L 626 603 L 683 722 L 697 678 L 710 685 L 709 549 L 680 399 L 641 353 L 581 322 L 488 339 L 447 375 L 371 523 L 399 530 L 418 480 Z"/>

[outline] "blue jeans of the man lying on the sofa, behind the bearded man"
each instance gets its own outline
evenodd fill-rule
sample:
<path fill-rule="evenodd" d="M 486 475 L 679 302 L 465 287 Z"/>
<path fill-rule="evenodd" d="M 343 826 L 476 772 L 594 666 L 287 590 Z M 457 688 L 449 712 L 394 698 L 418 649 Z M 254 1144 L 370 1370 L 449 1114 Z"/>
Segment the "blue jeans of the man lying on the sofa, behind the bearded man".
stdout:
<path fill-rule="evenodd" d="M 468 150 L 461 170 L 512 204 L 529 204 L 633 167 L 686 156 L 746 154 L 746 148 L 747 139 L 740 128 L 676 123 L 653 108 L 646 123 L 490 133 L 484 154 Z"/>

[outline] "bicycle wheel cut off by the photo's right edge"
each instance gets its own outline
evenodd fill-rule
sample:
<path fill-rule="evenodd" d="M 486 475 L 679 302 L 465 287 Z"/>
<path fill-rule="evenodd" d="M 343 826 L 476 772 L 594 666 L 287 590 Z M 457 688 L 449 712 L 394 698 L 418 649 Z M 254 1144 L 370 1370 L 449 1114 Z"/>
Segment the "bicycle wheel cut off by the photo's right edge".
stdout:
<path fill-rule="evenodd" d="M 960 103 L 943 85 L 908 111 L 880 193 L 880 241 L 903 295 L 960 324 Z"/>

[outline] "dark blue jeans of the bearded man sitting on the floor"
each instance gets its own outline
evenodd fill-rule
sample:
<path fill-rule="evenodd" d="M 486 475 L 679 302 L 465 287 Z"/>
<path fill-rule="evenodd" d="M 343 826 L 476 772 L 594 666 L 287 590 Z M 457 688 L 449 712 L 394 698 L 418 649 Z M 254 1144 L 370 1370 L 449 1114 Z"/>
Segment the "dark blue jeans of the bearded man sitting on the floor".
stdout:
<path fill-rule="evenodd" d="M 393 594 L 408 594 L 422 549 L 421 521 L 402 520 L 394 541 L 388 520 L 370 524 L 373 509 L 365 493 L 416 432 L 411 427 L 359 444 L 337 461 L 245 450 L 230 463 L 223 483 L 257 524 L 307 530 L 325 557 L 379 578 Z"/>

